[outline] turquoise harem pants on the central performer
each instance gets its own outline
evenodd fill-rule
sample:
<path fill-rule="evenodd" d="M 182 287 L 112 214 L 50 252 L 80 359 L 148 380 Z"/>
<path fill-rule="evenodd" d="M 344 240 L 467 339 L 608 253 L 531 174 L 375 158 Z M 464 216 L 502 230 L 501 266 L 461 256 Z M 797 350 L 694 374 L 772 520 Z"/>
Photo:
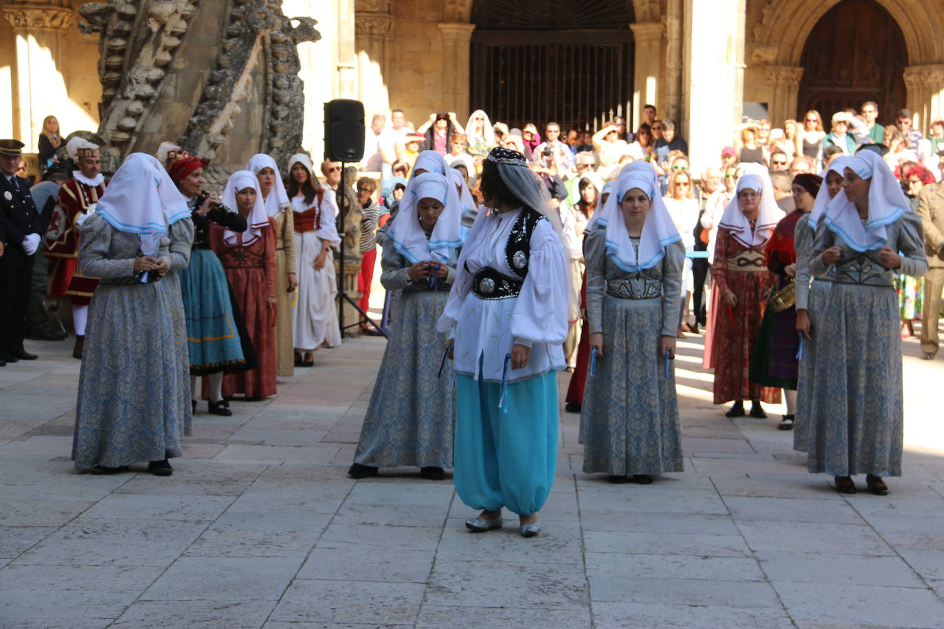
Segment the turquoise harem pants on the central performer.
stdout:
<path fill-rule="evenodd" d="M 476 509 L 541 510 L 557 469 L 557 373 L 508 385 L 508 412 L 498 408 L 501 384 L 456 374 L 456 492 Z"/>

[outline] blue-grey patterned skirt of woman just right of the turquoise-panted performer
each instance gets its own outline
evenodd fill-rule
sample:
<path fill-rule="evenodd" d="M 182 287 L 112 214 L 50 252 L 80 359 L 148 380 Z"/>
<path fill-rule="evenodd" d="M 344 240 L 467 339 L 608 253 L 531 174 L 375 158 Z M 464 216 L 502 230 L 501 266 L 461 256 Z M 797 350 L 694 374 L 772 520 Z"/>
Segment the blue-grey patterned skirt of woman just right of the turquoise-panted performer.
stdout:
<path fill-rule="evenodd" d="M 675 366 L 659 356 L 661 299 L 603 298 L 603 356 L 587 375 L 583 472 L 683 472 Z"/>

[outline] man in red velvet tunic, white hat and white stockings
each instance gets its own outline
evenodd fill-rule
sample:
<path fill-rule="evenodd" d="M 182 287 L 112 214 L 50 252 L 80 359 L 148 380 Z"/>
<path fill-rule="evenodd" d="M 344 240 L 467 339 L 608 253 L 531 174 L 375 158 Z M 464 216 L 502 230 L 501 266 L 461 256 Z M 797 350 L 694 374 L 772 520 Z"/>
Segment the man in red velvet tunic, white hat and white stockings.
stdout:
<path fill-rule="evenodd" d="M 89 206 L 97 203 L 105 193 L 105 177 L 101 174 L 102 158 L 98 146 L 82 138 L 73 138 L 66 145 L 66 151 L 78 165 L 78 170 L 59 189 L 59 203 L 49 221 L 43 255 L 56 265 L 49 283 L 49 296 L 72 297 L 72 320 L 76 328 L 76 346 L 72 355 L 81 358 L 89 303 L 98 280 L 78 273 L 78 236 Z"/>

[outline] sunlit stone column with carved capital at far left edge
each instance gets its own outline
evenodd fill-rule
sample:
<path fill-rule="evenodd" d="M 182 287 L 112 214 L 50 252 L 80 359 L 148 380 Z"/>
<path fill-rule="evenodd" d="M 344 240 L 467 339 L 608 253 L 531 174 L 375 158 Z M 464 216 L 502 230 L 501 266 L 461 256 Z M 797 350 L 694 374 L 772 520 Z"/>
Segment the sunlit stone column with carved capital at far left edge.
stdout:
<path fill-rule="evenodd" d="M 70 102 L 59 67 L 64 48 L 62 34 L 72 25 L 75 13 L 64 0 L 10 2 L 3 12 L 16 33 L 14 134 L 25 143 L 26 152 L 35 153 L 42 119 Z"/>

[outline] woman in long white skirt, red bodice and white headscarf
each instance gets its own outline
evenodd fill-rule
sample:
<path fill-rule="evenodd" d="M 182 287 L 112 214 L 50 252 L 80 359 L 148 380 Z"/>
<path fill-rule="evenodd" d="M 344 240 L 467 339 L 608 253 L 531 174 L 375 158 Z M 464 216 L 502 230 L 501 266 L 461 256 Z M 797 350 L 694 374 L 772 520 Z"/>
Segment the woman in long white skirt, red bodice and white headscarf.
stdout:
<path fill-rule="evenodd" d="M 341 329 L 334 296 L 338 283 L 332 247 L 338 237 L 338 207 L 334 194 L 318 185 L 312 159 L 299 153 L 289 157 L 289 196 L 295 225 L 295 269 L 298 273 L 297 302 L 292 306 L 295 364 L 311 367 L 314 352 L 328 341 L 341 344 Z"/>

